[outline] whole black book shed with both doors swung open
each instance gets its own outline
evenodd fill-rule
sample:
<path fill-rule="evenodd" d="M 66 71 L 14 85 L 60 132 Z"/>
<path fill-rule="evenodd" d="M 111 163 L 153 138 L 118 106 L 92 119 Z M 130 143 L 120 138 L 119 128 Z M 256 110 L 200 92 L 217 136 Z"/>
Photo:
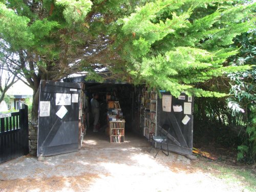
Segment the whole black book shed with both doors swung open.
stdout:
<path fill-rule="evenodd" d="M 175 98 L 164 90 L 157 96 L 145 86 L 88 82 L 84 77 L 65 80 L 69 82 L 40 83 L 37 156 L 81 147 L 149 146 L 153 136 L 161 134 L 168 137 L 163 149 L 192 154 L 192 96 L 181 93 Z M 99 112 L 96 123 L 91 103 L 94 94 Z M 164 132 L 163 125 L 168 131 Z"/>

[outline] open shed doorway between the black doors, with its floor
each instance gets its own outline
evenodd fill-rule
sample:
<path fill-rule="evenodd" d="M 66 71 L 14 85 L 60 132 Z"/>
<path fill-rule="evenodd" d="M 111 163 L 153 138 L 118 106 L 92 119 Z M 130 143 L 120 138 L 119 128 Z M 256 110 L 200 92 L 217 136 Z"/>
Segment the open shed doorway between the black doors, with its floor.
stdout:
<path fill-rule="evenodd" d="M 123 82 L 90 82 L 85 81 L 84 77 L 67 78 L 65 81 L 82 83 L 83 119 L 80 123 L 84 127 L 82 130 L 84 134 L 81 148 L 150 147 L 151 144 L 143 137 L 143 130 L 140 127 L 140 101 L 137 87 Z M 97 94 L 99 103 L 97 132 L 94 132 L 94 115 L 91 104 L 95 94 Z M 120 130 L 110 130 L 112 118 L 124 121 L 122 134 L 118 133 Z M 111 135 L 123 135 L 123 140 L 121 140 L 121 136 L 115 137 L 114 139 L 117 140 L 114 140 Z"/>

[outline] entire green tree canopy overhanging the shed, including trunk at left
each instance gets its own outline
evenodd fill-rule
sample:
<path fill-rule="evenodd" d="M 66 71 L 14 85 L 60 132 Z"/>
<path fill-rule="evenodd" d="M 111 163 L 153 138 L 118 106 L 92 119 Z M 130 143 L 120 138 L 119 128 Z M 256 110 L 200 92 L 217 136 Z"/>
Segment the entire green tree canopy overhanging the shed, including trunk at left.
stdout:
<path fill-rule="evenodd" d="M 213 0 L 15 0 L 0 2 L 2 54 L 34 90 L 41 79 L 148 83 L 177 96 L 223 96 L 197 83 L 246 66 L 225 66 L 232 39 L 248 30 L 255 5 Z M 11 57 L 9 55 L 12 55 Z M 224 65 L 223 65 L 224 63 Z M 99 75 L 100 68 L 105 69 Z"/>

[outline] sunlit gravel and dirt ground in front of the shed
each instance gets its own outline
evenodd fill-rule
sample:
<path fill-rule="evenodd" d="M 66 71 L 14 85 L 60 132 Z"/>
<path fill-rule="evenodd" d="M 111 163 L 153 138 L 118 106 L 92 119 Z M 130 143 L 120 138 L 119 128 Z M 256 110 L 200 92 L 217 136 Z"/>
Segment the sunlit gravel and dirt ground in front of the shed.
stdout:
<path fill-rule="evenodd" d="M 174 153 L 154 158 L 156 150 L 149 153 L 141 138 L 105 146 L 94 139 L 78 152 L 0 164 L 0 191 L 244 191 L 243 183 L 228 183 L 197 166 L 204 163 L 200 159 Z"/>

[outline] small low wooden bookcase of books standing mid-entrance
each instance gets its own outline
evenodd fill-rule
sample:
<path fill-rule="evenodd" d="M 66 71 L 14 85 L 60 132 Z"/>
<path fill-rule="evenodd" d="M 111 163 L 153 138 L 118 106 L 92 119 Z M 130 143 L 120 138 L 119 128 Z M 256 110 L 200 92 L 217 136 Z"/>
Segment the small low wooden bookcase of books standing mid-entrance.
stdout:
<path fill-rule="evenodd" d="M 124 142 L 124 123 L 124 120 L 109 121 L 111 143 Z"/>

